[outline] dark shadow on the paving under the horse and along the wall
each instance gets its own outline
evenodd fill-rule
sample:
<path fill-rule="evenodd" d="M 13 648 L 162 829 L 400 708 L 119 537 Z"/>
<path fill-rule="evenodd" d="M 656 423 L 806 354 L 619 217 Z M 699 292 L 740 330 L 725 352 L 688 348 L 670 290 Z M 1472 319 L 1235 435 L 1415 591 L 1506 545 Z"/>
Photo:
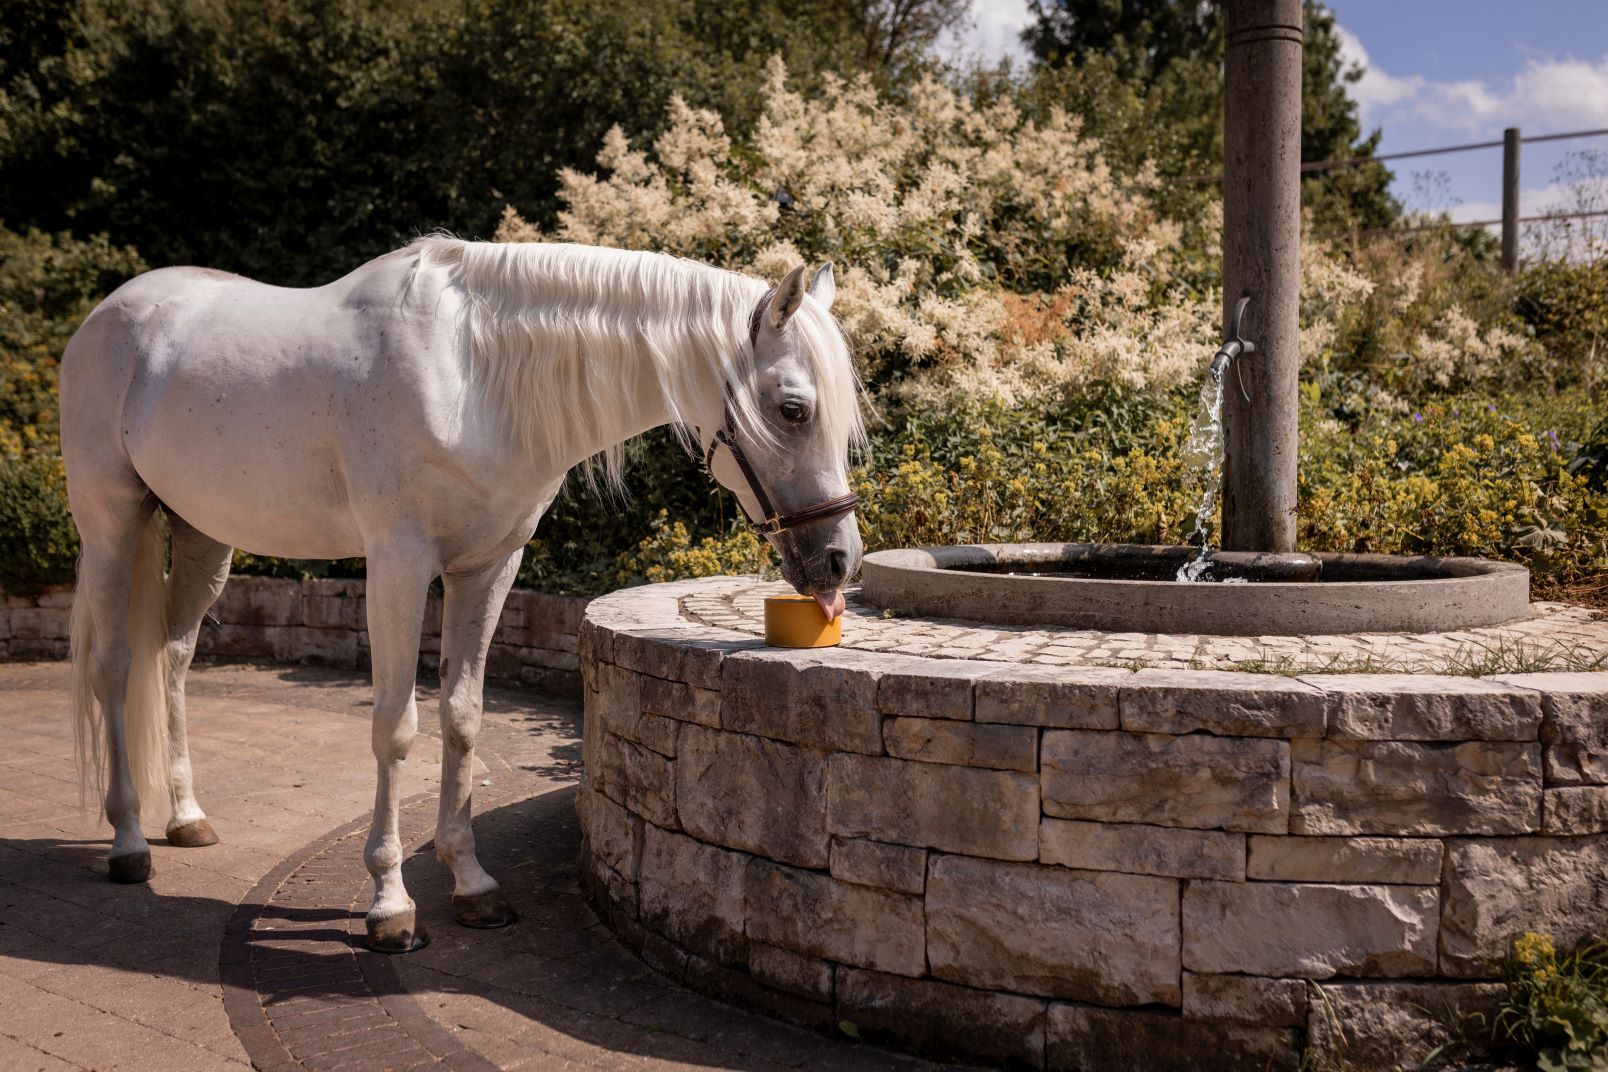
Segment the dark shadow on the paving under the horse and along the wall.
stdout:
<path fill-rule="evenodd" d="M 711 1067 L 745 1069 L 762 1064 L 761 1058 L 785 1038 L 786 1049 L 817 1049 L 810 1058 L 817 1066 L 823 1059 L 855 1067 L 907 1064 L 704 1001 L 646 968 L 614 940 L 580 894 L 574 799 L 572 786 L 553 789 L 474 820 L 481 861 L 498 876 L 519 911 L 511 927 L 471 931 L 452 919 L 452 876 L 436 861 L 433 844 L 404 863 L 408 892 L 433 940 L 416 953 L 388 958 L 397 985 L 384 990 L 420 995 L 421 1001 L 431 992 L 476 995 L 582 1043 L 674 1062 L 698 1059 Z M 220 833 L 228 837 L 227 829 Z M 0 959 L 13 961 L 24 976 L 98 966 L 130 972 L 130 985 L 148 974 L 217 985 L 217 939 L 236 905 L 217 897 L 156 894 L 148 886 L 114 886 L 106 881 L 105 853 L 105 841 L 0 839 L 8 879 L 0 884 Z M 367 895 L 359 903 L 365 902 Z M 275 972 L 297 974 L 293 964 L 306 959 L 312 974 L 315 964 L 328 964 L 330 951 L 360 945 L 360 910 L 267 905 L 260 914 L 291 924 L 252 934 L 259 948 L 281 937 L 294 940 L 296 948 L 273 951 Z M 307 940 L 322 945 L 323 956 L 301 951 Z M 375 955 L 359 948 L 359 956 Z M 341 985 L 331 982 L 328 992 Z M 296 996 L 322 988 L 314 980 Z M 473 1013 L 473 1006 L 465 1008 Z M 507 1016 L 502 1021 L 507 1024 Z M 474 1048 L 474 1024 L 452 1027 Z M 693 1045 L 703 1041 L 714 1045 Z M 820 1051 L 823 1046 L 833 1053 Z"/>

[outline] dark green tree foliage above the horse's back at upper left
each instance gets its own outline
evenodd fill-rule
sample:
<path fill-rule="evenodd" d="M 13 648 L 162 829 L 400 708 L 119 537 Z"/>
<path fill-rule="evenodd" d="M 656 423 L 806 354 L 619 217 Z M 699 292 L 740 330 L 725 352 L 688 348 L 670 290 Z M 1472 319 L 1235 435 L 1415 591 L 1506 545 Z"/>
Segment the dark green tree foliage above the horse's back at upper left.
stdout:
<path fill-rule="evenodd" d="M 958 0 L 16 0 L 0 204 L 154 265 L 326 281 L 433 228 L 552 207 L 682 93 L 743 130 L 764 63 L 920 64 Z"/>

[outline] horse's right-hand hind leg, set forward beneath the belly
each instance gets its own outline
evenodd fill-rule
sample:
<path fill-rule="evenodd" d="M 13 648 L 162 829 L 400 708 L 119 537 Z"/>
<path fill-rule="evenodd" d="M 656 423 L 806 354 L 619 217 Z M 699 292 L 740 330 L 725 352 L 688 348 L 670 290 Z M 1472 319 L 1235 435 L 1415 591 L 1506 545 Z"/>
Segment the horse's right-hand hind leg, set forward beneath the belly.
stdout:
<path fill-rule="evenodd" d="M 185 677 L 196 654 L 196 636 L 207 608 L 228 580 L 232 548 L 169 514 L 174 564 L 167 575 L 167 781 L 172 815 L 167 842 L 183 849 L 215 845 L 217 834 L 196 804 L 190 770 L 190 733 L 185 715 Z"/>

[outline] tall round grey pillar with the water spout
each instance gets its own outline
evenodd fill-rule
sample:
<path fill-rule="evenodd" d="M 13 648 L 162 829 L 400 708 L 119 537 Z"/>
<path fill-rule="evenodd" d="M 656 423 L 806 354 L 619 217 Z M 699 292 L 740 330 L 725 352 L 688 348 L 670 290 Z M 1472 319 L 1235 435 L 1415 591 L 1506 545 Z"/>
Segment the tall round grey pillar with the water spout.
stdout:
<path fill-rule="evenodd" d="M 1222 546 L 1293 551 L 1301 383 L 1301 0 L 1227 0 L 1224 6 L 1224 326 L 1233 304 L 1249 294 L 1243 331 L 1256 352 L 1230 365 L 1224 391 Z"/>

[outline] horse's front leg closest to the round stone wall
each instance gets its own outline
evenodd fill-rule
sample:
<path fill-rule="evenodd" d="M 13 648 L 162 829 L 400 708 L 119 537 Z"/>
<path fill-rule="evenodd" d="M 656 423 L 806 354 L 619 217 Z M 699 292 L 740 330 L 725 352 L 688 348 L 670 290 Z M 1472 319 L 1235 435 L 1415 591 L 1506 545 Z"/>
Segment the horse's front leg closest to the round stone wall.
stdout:
<path fill-rule="evenodd" d="M 445 574 L 441 614 L 441 818 L 436 855 L 452 868 L 452 911 L 466 927 L 502 927 L 513 906 L 474 857 L 470 794 L 474 786 L 474 738 L 481 728 L 486 651 L 497 632 L 503 599 L 519 572 L 516 550 L 507 561 L 473 574 Z"/>

